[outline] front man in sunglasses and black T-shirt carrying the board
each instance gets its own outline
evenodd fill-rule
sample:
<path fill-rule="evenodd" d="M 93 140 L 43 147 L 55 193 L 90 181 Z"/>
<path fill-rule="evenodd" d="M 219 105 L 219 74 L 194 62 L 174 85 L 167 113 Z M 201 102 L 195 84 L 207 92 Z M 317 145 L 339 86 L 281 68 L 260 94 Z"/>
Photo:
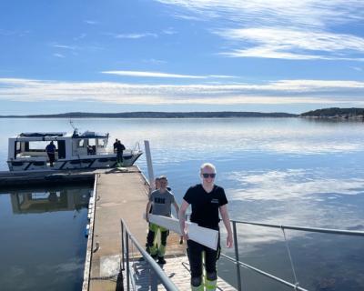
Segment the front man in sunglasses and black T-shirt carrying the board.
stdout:
<path fill-rule="evenodd" d="M 198 244 L 188 239 L 185 219 L 188 206 L 192 206 L 191 222 L 198 226 L 219 230 L 220 213 L 225 227 L 227 228 L 227 247 L 233 246 L 233 236 L 230 219 L 227 213 L 227 196 L 224 188 L 215 185 L 216 168 L 210 163 L 200 167 L 202 184 L 191 186 L 183 197 L 179 210 L 179 225 L 184 239 L 187 240 L 187 254 L 191 271 L 191 290 L 216 290 L 217 287 L 217 259 L 220 253 L 220 236 L 218 235 L 217 250 Z M 203 256 L 205 253 L 205 256 Z M 202 270 L 205 258 L 205 284 L 203 282 Z"/>

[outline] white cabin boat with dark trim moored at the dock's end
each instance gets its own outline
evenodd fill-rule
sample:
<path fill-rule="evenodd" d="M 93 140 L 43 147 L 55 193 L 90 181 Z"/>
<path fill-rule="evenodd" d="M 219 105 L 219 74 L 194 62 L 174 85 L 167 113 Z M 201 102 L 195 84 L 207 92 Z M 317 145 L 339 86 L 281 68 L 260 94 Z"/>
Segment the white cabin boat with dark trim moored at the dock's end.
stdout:
<path fill-rule="evenodd" d="M 9 138 L 7 164 L 10 171 L 45 171 L 116 167 L 116 153 L 107 148 L 108 134 L 86 131 L 23 133 Z M 56 146 L 56 160 L 50 166 L 45 146 Z M 123 152 L 123 166 L 133 166 L 143 152 L 138 144 Z"/>

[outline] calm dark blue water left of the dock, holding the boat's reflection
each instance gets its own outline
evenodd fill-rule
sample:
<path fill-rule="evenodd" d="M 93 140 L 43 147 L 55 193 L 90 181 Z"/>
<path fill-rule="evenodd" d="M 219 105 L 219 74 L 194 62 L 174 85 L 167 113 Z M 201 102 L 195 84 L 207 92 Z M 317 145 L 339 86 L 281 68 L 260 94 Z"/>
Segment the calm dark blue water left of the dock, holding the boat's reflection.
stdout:
<path fill-rule="evenodd" d="M 90 186 L 0 195 L 1 290 L 80 290 Z"/>

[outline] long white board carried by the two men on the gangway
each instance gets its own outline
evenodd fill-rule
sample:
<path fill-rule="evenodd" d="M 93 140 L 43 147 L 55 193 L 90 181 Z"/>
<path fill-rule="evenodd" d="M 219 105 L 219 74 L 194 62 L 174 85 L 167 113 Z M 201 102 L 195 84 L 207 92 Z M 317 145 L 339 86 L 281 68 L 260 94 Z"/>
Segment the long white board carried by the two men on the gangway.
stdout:
<path fill-rule="evenodd" d="M 155 216 L 149 214 L 149 222 L 165 227 L 179 236 L 182 236 L 179 227 L 179 220 L 174 217 Z M 201 244 L 217 250 L 218 231 L 207 227 L 197 226 L 197 224 L 186 221 L 188 238 Z"/>

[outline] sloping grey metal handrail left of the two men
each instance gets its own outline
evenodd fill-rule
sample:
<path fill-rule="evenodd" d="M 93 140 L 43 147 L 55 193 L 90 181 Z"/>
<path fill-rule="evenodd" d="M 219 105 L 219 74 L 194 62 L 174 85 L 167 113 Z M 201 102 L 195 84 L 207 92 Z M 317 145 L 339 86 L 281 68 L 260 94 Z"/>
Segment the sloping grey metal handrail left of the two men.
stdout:
<path fill-rule="evenodd" d="M 158 266 L 157 262 L 144 250 L 142 246 L 136 240 L 136 237 L 133 236 L 126 226 L 124 219 L 121 219 L 121 237 L 122 237 L 122 265 L 123 269 L 126 269 L 126 290 L 130 290 L 130 267 L 129 267 L 129 239 L 136 246 L 139 253 L 144 257 L 147 264 L 150 266 L 150 277 L 151 277 L 151 290 L 157 291 L 157 278 L 161 281 L 163 286 L 168 291 L 177 291 L 177 286 L 173 284 L 171 279 L 166 275 L 166 273 Z M 125 268 L 126 265 L 126 268 Z M 157 277 L 156 277 L 157 276 Z"/>

